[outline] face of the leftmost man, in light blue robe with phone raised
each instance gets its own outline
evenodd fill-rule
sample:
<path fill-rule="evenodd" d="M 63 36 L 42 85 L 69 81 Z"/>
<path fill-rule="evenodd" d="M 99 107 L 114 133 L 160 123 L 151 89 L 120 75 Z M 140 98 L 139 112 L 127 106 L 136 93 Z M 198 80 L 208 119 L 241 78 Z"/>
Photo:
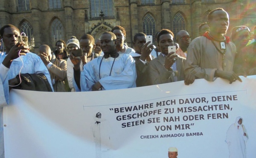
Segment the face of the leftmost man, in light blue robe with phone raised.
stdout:
<path fill-rule="evenodd" d="M 20 36 L 20 31 L 16 28 L 5 28 L 3 31 L 3 43 L 6 46 L 6 50 L 10 50 L 18 42 L 18 36 Z"/>

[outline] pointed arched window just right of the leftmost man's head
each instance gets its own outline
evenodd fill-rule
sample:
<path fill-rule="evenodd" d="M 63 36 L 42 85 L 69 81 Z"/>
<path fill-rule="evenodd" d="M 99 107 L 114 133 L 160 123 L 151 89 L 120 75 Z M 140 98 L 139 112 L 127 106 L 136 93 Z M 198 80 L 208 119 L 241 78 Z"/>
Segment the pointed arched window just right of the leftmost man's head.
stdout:
<path fill-rule="evenodd" d="M 24 21 L 20 26 L 20 32 L 24 32 L 26 34 L 28 37 L 29 49 L 33 49 L 35 47 L 35 40 L 32 25 L 28 21 Z"/>

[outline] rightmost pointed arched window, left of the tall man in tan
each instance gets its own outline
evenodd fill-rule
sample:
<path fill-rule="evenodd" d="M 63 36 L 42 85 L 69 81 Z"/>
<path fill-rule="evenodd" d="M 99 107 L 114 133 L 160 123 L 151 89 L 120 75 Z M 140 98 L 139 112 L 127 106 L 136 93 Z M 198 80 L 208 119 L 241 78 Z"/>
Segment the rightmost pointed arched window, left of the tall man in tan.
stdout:
<path fill-rule="evenodd" d="M 176 34 L 177 34 L 180 30 L 186 30 L 185 24 L 186 24 L 186 23 L 185 23 L 185 19 L 184 19 L 184 17 L 182 16 L 182 14 L 177 13 L 177 14 L 174 16 L 173 22 L 172 22 L 174 37 L 176 37 Z"/>

